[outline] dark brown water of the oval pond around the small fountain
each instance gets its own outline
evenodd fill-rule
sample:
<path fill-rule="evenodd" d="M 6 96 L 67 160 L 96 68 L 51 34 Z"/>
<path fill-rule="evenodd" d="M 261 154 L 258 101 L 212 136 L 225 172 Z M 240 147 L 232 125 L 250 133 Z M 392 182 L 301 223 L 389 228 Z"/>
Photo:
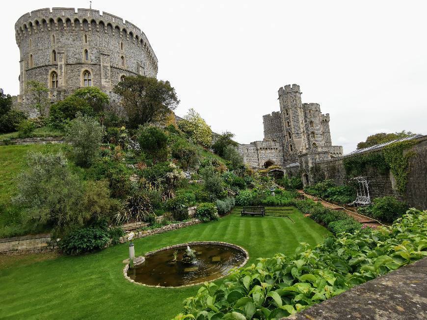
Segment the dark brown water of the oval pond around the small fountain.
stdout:
<path fill-rule="evenodd" d="M 242 250 L 222 244 L 190 244 L 190 248 L 196 252 L 194 263 L 181 262 L 185 244 L 146 256 L 143 264 L 128 270 L 128 276 L 149 286 L 179 287 L 222 277 L 246 259 Z"/>

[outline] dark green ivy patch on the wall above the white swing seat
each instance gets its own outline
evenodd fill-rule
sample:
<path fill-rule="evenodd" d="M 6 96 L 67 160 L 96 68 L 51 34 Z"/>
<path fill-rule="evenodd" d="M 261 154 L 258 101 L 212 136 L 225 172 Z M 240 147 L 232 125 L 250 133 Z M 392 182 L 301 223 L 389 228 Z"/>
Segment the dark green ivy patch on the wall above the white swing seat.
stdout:
<path fill-rule="evenodd" d="M 387 169 L 390 168 L 382 152 L 350 157 L 344 159 L 343 164 L 347 174 L 353 176 L 360 175 L 366 166 L 375 167 L 382 173 L 386 173 Z"/>

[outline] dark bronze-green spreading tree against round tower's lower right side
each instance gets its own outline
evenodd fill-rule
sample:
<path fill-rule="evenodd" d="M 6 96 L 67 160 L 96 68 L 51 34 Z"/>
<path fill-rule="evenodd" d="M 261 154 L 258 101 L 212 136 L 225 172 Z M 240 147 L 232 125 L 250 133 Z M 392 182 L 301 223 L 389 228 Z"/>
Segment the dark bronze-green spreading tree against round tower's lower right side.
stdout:
<path fill-rule="evenodd" d="M 122 98 L 121 103 L 128 114 L 131 128 L 161 122 L 179 104 L 175 89 L 169 81 L 151 77 L 125 77 L 114 87 L 113 92 Z"/>

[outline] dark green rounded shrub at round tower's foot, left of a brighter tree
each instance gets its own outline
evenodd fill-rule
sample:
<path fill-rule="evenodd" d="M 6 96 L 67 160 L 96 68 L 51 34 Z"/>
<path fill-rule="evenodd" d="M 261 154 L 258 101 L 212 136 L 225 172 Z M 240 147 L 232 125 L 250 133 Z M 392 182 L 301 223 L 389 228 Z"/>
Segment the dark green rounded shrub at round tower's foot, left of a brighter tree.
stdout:
<path fill-rule="evenodd" d="M 51 106 L 49 121 L 54 128 L 63 129 L 78 112 L 83 115 L 93 115 L 92 107 L 84 99 L 71 95 Z"/>

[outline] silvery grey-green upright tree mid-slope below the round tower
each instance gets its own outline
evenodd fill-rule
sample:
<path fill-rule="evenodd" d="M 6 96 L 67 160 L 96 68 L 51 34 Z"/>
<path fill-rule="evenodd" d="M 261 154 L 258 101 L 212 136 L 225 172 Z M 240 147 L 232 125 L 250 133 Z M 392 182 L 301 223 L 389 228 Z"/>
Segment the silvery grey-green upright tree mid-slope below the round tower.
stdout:
<path fill-rule="evenodd" d="M 65 128 L 65 139 L 73 145 L 76 162 L 89 166 L 98 156 L 102 140 L 102 128 L 97 120 L 78 114 Z"/>

